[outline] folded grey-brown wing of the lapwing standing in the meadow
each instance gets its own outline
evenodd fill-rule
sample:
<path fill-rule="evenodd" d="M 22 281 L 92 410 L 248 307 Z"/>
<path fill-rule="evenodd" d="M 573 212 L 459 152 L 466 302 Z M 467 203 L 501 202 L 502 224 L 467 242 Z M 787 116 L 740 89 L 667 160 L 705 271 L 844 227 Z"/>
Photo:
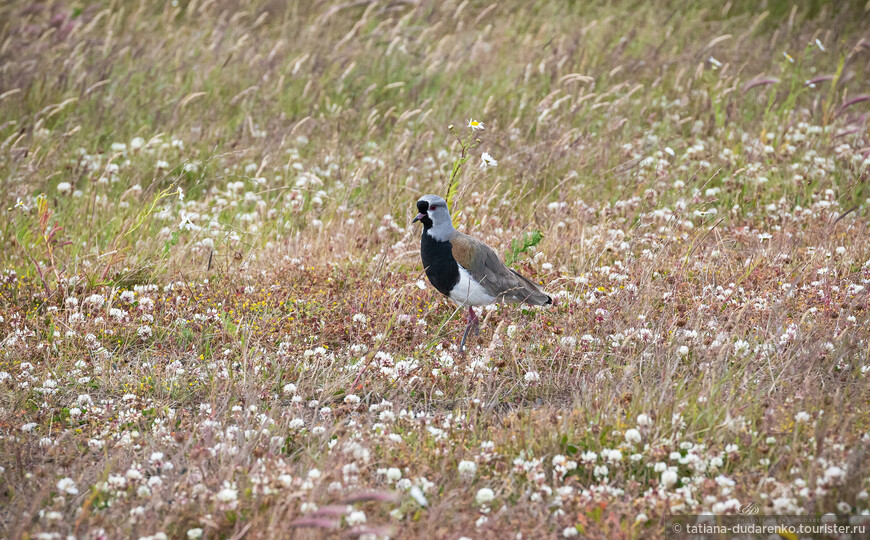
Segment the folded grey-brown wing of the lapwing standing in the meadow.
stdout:
<path fill-rule="evenodd" d="M 480 240 L 466 234 L 450 239 L 453 258 L 481 287 L 502 302 L 525 302 L 536 306 L 552 303 L 532 281 L 514 272 L 501 262 L 495 251 Z"/>

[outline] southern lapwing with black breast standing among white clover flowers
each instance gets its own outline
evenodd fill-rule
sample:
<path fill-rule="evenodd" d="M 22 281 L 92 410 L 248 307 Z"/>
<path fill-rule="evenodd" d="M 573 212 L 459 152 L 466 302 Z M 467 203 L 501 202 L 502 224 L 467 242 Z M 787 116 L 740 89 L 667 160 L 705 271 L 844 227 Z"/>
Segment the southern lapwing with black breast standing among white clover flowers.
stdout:
<path fill-rule="evenodd" d="M 468 308 L 460 352 L 464 352 L 471 330 L 480 334 L 475 306 L 496 302 L 533 306 L 553 303 L 534 282 L 505 266 L 491 247 L 454 229 L 447 201 L 438 195 L 426 195 L 417 201 L 417 210 L 420 213 L 411 223 L 423 223 L 420 256 L 426 277 L 438 292 Z"/>

